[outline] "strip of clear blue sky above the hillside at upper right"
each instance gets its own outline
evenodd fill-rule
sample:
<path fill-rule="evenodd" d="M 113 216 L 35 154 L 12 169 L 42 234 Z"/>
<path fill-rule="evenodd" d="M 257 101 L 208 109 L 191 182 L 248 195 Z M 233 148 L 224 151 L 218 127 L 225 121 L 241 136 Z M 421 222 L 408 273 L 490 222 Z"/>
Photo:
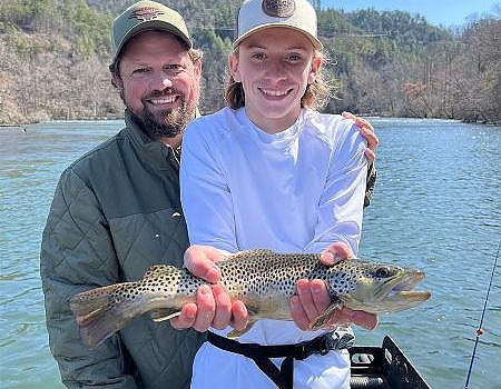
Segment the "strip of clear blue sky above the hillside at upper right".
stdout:
<path fill-rule="evenodd" d="M 345 11 L 373 8 L 377 11 L 401 10 L 411 14 L 420 13 L 429 23 L 443 27 L 465 24 L 468 17 L 473 13 L 478 17 L 484 12 L 492 14 L 494 4 L 501 8 L 501 2 L 494 0 L 322 0 L 322 8 Z"/>

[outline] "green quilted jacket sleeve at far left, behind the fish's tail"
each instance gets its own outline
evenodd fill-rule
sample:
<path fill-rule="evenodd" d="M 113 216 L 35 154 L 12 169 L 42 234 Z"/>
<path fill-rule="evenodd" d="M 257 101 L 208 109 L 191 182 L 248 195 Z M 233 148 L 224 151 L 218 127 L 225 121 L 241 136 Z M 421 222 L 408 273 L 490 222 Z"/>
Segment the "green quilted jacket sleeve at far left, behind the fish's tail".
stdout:
<path fill-rule="evenodd" d="M 95 350 L 80 341 L 69 299 L 118 281 L 107 221 L 92 190 L 69 168 L 58 183 L 40 251 L 50 350 L 68 388 L 137 388 L 115 335 Z"/>

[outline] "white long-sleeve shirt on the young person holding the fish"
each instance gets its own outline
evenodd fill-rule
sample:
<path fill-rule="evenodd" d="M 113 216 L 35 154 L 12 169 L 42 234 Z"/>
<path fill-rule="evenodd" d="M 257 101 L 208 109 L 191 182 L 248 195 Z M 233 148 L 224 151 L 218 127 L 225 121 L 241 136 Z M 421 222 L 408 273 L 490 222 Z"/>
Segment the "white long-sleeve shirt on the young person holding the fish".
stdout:
<path fill-rule="evenodd" d="M 353 121 L 306 109 L 294 126 L 274 134 L 257 128 L 245 109 L 225 108 L 193 121 L 184 134 L 180 170 L 190 243 L 229 252 L 255 248 L 321 252 L 344 241 L 356 253 L 364 150 Z M 320 333 L 302 331 L 292 321 L 258 320 L 238 340 L 284 345 Z M 295 361 L 295 388 L 342 385 L 348 377 L 346 358 L 346 352 L 332 351 Z M 273 388 L 256 371 L 252 360 L 205 343 L 194 365 L 193 386 L 248 388 L 249 379 L 262 379 L 252 387 Z"/>

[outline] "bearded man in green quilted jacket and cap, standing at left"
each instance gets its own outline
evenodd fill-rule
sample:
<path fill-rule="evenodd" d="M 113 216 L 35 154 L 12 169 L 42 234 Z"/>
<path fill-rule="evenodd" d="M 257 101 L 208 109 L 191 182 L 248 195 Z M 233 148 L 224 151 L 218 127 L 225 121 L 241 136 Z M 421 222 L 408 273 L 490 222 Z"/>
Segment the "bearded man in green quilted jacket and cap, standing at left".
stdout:
<path fill-rule="evenodd" d="M 49 346 L 68 388 L 187 388 L 205 333 L 141 317 L 89 350 L 68 302 L 84 290 L 138 280 L 151 265 L 181 267 L 189 246 L 179 152 L 197 114 L 202 52 L 181 16 L 151 1 L 121 13 L 112 38 L 109 68 L 125 128 L 58 182 L 40 252 Z"/>

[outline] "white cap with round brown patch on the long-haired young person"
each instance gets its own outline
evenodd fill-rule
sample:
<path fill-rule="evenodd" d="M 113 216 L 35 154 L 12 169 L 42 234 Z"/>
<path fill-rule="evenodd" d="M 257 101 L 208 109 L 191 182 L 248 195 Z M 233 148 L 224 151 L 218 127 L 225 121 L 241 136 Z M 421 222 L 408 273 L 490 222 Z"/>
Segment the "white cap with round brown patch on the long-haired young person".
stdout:
<path fill-rule="evenodd" d="M 245 38 L 271 27 L 303 32 L 315 49 L 323 44 L 316 37 L 316 12 L 307 0 L 246 0 L 238 10 L 235 31 L 236 48 Z"/>

